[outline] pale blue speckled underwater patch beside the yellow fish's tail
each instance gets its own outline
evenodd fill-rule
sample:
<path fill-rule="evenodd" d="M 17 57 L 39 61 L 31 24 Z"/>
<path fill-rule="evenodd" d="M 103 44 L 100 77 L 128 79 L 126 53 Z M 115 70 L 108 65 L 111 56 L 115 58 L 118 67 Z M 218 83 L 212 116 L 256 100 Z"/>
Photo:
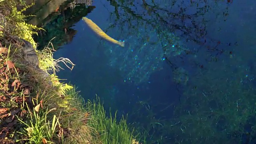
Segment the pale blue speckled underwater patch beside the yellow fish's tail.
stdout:
<path fill-rule="evenodd" d="M 124 49 L 104 43 L 109 66 L 121 71 L 124 82 L 134 85 L 148 82 L 150 74 L 162 69 L 166 58 L 188 50 L 173 32 L 158 33 L 157 29 L 144 23 L 141 28 L 130 28 L 133 33 L 124 31 L 122 37 L 127 44 Z"/>

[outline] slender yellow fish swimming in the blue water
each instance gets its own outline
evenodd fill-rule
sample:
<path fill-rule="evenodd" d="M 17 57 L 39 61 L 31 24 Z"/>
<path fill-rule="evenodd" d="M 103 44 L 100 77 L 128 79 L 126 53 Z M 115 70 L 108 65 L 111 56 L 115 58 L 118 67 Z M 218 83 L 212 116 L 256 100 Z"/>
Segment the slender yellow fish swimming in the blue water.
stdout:
<path fill-rule="evenodd" d="M 90 20 L 89 18 L 83 17 L 83 20 L 94 32 L 96 32 L 96 34 L 98 34 L 98 36 L 100 36 L 114 44 L 118 44 L 118 45 L 124 47 L 124 42 L 119 42 L 119 41 L 115 40 L 114 38 L 111 38 L 110 36 L 108 36 L 105 32 L 103 32 L 102 29 L 100 29 L 100 27 L 97 26 L 97 24 L 92 22 L 92 20 Z"/>

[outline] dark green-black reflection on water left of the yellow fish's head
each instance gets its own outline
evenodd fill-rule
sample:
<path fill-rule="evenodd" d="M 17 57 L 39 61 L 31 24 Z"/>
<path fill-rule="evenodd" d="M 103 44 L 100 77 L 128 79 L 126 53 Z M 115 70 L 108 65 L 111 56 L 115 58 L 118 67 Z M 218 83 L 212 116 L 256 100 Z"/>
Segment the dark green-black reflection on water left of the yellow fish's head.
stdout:
<path fill-rule="evenodd" d="M 38 49 L 47 46 L 48 42 L 54 37 L 56 38 L 51 41 L 54 49 L 58 49 L 63 44 L 71 42 L 76 34 L 76 30 L 71 27 L 95 8 L 95 6 L 85 7 L 85 4 L 78 3 L 76 3 L 74 8 L 71 7 L 72 4 L 64 2 L 57 12 L 53 12 L 44 19 L 42 28 L 46 31 L 40 31 L 38 36 L 35 36 L 35 41 L 40 44 Z"/>

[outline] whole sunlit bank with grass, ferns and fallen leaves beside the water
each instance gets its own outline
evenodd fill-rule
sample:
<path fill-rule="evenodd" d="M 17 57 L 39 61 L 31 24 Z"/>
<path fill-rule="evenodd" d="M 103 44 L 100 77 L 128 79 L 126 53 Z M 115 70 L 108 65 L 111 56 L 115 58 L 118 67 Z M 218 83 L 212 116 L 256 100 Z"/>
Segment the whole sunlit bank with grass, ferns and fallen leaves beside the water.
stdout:
<path fill-rule="evenodd" d="M 26 24 L 17 5 L 28 7 L 0 0 L 0 143 L 138 144 L 126 120 L 108 118 L 98 97 L 84 101 L 59 82 L 58 63 L 74 64 L 54 60 L 50 43 L 35 50 L 32 34 L 40 28 Z"/>

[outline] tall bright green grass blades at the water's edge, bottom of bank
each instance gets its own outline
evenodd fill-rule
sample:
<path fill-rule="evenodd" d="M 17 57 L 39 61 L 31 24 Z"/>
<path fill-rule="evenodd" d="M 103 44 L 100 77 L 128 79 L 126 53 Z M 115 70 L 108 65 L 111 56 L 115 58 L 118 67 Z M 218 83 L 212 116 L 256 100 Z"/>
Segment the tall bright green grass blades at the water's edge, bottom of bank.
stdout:
<path fill-rule="evenodd" d="M 90 124 L 95 128 L 95 137 L 100 140 L 100 144 L 139 144 L 132 135 L 134 129 L 129 130 L 124 116 L 118 122 L 116 120 L 116 111 L 114 116 L 110 114 L 108 118 L 97 95 L 96 100 L 86 103 L 86 108 L 92 112 L 92 120 L 96 120 L 96 122 Z"/>

